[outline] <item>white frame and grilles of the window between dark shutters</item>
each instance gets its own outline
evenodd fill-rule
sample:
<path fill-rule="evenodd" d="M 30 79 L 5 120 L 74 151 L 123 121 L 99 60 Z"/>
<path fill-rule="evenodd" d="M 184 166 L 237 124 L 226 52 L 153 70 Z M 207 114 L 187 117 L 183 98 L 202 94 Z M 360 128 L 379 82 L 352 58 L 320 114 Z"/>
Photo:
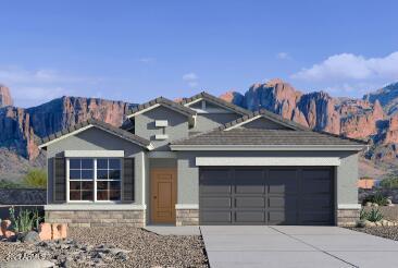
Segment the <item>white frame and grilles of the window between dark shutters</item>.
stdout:
<path fill-rule="evenodd" d="M 78 158 L 92 158 L 92 157 L 78 157 Z M 99 157 L 101 158 L 101 157 Z M 112 157 L 108 157 L 112 158 Z M 123 200 L 123 161 L 121 160 L 121 180 L 115 180 L 121 182 L 121 197 L 119 200 L 97 200 L 97 158 L 92 158 L 94 160 L 94 200 L 71 200 L 70 198 L 70 182 L 74 181 L 70 179 L 70 159 L 66 158 L 66 203 L 70 204 L 120 204 Z M 88 181 L 88 180 L 85 180 Z M 107 180 L 108 181 L 108 180 Z"/>

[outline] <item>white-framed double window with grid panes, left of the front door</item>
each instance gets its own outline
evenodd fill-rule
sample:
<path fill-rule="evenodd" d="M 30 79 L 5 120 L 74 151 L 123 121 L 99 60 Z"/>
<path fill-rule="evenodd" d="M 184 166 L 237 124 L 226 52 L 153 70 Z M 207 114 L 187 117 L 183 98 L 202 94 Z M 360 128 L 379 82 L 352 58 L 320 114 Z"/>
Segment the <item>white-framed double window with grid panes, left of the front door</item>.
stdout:
<path fill-rule="evenodd" d="M 122 161 L 119 158 L 70 158 L 69 198 L 75 200 L 121 199 Z"/>

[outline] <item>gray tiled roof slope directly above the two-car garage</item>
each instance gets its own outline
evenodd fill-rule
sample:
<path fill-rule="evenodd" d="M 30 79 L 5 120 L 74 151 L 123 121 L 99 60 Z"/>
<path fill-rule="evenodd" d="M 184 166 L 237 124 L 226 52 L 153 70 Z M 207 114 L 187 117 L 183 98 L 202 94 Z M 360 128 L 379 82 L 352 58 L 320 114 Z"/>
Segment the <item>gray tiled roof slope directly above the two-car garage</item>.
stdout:
<path fill-rule="evenodd" d="M 313 131 L 233 129 L 199 134 L 172 145 L 352 146 L 363 143 Z"/>

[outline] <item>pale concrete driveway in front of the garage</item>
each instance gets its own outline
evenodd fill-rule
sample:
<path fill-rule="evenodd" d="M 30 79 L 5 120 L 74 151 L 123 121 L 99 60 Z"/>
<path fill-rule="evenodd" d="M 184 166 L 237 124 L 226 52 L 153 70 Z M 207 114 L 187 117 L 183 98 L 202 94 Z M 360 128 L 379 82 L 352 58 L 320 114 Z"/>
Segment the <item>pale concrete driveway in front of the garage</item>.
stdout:
<path fill-rule="evenodd" d="M 398 242 L 338 227 L 200 227 L 211 268 L 398 267 Z"/>

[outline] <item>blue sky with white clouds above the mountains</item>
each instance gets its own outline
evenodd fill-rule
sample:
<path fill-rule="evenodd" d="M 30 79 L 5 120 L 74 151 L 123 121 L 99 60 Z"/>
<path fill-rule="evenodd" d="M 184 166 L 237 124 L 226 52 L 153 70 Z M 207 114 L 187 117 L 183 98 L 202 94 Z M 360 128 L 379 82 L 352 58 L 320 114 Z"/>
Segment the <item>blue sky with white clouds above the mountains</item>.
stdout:
<path fill-rule="evenodd" d="M 397 1 L 2 1 L 0 83 L 21 107 L 62 95 L 141 102 L 398 81 Z"/>

